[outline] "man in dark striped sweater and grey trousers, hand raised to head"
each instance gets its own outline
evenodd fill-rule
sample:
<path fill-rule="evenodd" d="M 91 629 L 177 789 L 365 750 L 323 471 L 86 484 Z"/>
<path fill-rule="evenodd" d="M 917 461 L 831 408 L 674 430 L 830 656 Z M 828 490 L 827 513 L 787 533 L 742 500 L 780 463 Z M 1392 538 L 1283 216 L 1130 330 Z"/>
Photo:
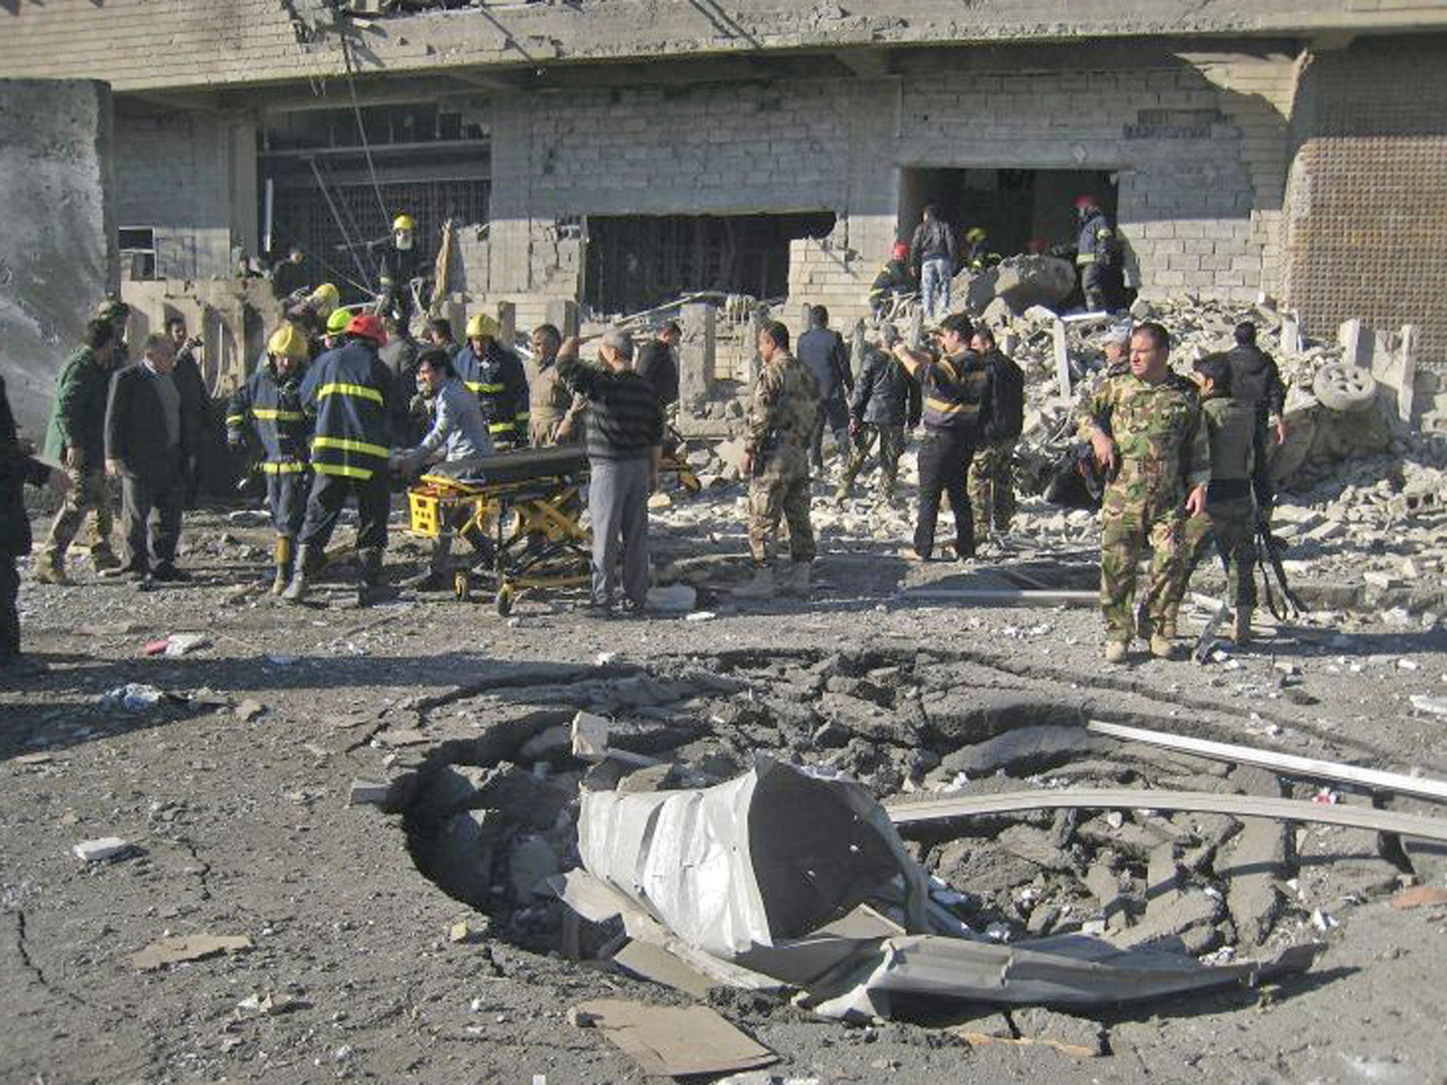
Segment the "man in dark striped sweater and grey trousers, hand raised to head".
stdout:
<path fill-rule="evenodd" d="M 598 347 L 602 369 L 577 357 L 570 339 L 557 354 L 559 379 L 589 404 L 587 508 L 593 516 L 593 608 L 612 612 L 622 558 L 624 609 L 648 602 L 648 495 L 658 486 L 663 411 L 658 396 L 632 370 L 632 336 L 608 328 Z M 621 553 L 619 553 L 621 551 Z"/>

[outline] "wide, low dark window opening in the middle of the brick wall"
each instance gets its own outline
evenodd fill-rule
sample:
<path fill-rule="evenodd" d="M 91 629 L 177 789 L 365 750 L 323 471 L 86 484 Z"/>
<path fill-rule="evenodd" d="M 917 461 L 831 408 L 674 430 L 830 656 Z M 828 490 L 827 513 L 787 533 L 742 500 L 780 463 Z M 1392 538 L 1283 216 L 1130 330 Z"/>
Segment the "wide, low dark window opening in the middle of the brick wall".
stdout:
<path fill-rule="evenodd" d="M 680 294 L 789 294 L 789 243 L 825 237 L 832 211 L 738 216 L 589 216 L 583 301 L 638 312 Z"/>

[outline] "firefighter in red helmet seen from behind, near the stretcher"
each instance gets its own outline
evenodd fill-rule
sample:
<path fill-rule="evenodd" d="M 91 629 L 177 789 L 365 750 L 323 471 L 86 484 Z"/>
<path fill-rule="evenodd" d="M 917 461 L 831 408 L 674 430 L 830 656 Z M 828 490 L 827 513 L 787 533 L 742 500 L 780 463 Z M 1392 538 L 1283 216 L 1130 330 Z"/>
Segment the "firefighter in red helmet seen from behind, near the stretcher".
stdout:
<path fill-rule="evenodd" d="M 347 495 L 357 503 L 357 603 L 366 606 L 382 582 L 386 516 L 391 511 L 388 456 L 392 440 L 392 375 L 378 350 L 386 343 L 381 318 L 363 312 L 347 324 L 347 341 L 328 350 L 301 382 L 301 407 L 314 418 L 311 493 L 297 535 L 297 561 L 287 602 L 301 602 L 321 569 L 327 542 Z"/>

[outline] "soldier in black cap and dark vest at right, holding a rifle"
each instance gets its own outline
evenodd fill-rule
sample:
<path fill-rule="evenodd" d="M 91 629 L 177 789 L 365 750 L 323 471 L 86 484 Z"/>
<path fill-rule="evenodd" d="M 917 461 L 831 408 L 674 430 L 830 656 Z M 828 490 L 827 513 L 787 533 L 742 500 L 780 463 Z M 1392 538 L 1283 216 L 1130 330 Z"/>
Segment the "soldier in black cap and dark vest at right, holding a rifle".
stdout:
<path fill-rule="evenodd" d="M 1252 496 L 1256 405 L 1231 396 L 1231 359 L 1207 354 L 1194 366 L 1201 388 L 1201 418 L 1211 446 L 1211 485 L 1207 512 L 1185 522 L 1188 576 L 1210 554 L 1210 544 L 1226 561 L 1227 597 L 1236 608 L 1236 642 L 1252 638 L 1256 606 L 1256 502 Z M 1172 624 L 1175 612 L 1171 615 Z"/>

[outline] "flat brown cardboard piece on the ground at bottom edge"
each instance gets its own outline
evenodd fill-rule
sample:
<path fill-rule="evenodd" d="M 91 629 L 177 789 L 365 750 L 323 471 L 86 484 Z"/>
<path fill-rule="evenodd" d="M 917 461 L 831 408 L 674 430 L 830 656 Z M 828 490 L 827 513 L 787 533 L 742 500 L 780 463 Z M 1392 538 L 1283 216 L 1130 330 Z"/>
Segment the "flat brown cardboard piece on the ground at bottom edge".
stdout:
<path fill-rule="evenodd" d="M 705 1005 L 680 1008 L 596 998 L 574 1011 L 632 1056 L 644 1073 L 660 1078 L 734 1073 L 778 1062 L 777 1055 Z"/>

